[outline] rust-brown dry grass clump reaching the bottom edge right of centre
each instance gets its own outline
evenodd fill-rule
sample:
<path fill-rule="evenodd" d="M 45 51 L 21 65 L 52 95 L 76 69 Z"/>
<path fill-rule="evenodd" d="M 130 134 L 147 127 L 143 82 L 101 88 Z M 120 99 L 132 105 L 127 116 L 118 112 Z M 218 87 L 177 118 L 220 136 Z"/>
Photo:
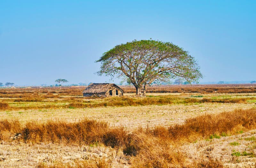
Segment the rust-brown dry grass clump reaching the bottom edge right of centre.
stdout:
<path fill-rule="evenodd" d="M 171 146 L 172 142 L 162 141 L 161 138 L 147 134 L 137 134 L 140 139 L 137 143 L 138 153 L 131 157 L 131 167 L 184 167 L 185 156 Z"/>

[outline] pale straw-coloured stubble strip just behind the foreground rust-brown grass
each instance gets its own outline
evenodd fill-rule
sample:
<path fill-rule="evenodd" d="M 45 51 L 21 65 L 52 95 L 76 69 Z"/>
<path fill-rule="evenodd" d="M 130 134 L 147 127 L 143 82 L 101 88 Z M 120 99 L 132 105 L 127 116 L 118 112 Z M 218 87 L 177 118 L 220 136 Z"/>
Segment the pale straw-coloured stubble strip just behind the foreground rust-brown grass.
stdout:
<path fill-rule="evenodd" d="M 108 122 L 111 127 L 125 126 L 127 129 L 137 127 L 155 127 L 156 125 L 170 126 L 183 123 L 187 118 L 206 114 L 216 114 L 224 111 L 233 111 L 236 108 L 248 109 L 254 104 L 176 104 L 176 105 L 148 105 L 129 107 L 100 107 L 100 108 L 64 108 L 42 110 L 8 110 L 0 112 L 0 118 L 18 119 L 22 125 L 29 121 L 45 123 L 49 120 L 64 120 L 77 122 L 84 118 Z"/>

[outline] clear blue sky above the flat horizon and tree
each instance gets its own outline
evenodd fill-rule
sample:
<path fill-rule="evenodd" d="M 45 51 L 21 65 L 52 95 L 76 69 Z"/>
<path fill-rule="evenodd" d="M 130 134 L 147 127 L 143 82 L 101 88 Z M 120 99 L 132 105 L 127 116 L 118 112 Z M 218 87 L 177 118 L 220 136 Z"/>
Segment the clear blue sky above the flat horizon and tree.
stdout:
<path fill-rule="evenodd" d="M 256 80 L 256 1 L 0 0 L 0 82 L 101 83 L 100 56 L 134 39 L 172 42 L 203 82 Z"/>

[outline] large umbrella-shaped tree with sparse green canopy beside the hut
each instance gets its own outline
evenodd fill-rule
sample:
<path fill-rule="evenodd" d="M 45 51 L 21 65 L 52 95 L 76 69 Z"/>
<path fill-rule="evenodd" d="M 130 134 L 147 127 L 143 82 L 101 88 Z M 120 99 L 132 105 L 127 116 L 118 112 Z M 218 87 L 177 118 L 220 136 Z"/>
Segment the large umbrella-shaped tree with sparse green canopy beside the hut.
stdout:
<path fill-rule="evenodd" d="M 196 82 L 202 77 L 194 57 L 177 45 L 155 40 L 134 40 L 116 45 L 103 53 L 99 75 L 129 78 L 136 95 L 146 94 L 146 88 L 155 80 L 168 81 L 181 77 Z"/>

